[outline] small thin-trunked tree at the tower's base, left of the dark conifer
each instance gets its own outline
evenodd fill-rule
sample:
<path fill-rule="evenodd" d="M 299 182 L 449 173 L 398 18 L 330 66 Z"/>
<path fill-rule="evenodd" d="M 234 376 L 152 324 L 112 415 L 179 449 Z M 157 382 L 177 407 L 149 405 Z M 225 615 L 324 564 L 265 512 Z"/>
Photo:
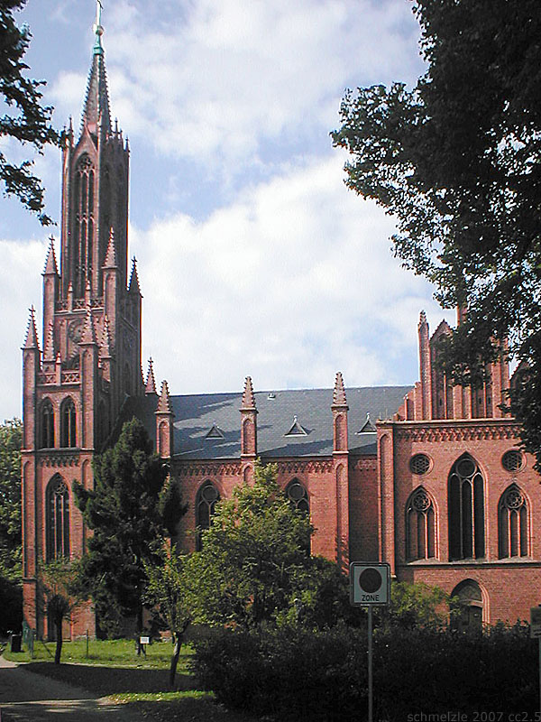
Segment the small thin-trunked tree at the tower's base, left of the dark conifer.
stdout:
<path fill-rule="evenodd" d="M 78 588 L 78 560 L 57 559 L 39 569 L 39 579 L 45 601 L 44 612 L 54 625 L 56 651 L 54 663 L 60 664 L 62 654 L 62 625 L 76 607 L 83 602 Z"/>

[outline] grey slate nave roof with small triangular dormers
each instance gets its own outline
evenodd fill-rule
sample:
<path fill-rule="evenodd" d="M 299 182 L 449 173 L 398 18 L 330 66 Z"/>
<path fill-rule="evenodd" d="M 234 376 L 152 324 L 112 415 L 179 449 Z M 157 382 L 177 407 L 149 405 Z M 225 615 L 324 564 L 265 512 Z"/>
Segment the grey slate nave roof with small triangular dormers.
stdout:
<path fill-rule="evenodd" d="M 347 388 L 350 453 L 375 454 L 375 431 L 361 432 L 370 414 L 371 424 L 390 419 L 411 386 Z M 257 450 L 261 458 L 318 457 L 333 453 L 333 389 L 256 392 Z M 240 458 L 243 393 L 197 393 L 171 396 L 174 453 L 179 459 Z M 158 397 L 131 397 L 124 403 L 121 421 L 137 416 L 156 435 L 154 412 Z M 297 416 L 306 436 L 288 436 Z M 223 434 L 208 435 L 216 426 Z"/>

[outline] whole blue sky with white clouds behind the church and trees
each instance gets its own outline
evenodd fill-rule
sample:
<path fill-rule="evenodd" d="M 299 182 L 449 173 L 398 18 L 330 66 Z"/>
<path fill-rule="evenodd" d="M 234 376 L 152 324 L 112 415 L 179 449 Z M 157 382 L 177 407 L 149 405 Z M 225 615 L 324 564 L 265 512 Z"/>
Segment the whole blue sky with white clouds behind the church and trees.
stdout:
<path fill-rule="evenodd" d="M 346 190 L 329 138 L 345 88 L 422 72 L 411 3 L 103 5 L 112 113 L 132 150 L 145 373 L 152 356 L 171 393 L 240 390 L 245 375 L 256 390 L 329 386 L 338 370 L 346 386 L 414 383 L 419 310 L 433 329 L 444 312 L 393 258 L 392 220 Z M 59 127 L 79 125 L 95 13 L 95 0 L 29 0 L 18 16 Z M 58 220 L 60 153 L 36 171 Z M 21 412 L 49 235 L 0 199 L 0 418 Z"/>

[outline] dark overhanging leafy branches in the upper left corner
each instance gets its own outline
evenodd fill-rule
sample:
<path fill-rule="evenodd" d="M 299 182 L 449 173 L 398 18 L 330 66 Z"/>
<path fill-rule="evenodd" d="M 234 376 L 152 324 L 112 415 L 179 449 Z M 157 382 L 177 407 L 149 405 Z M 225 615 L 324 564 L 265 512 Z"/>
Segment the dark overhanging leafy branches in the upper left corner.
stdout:
<path fill-rule="evenodd" d="M 17 27 L 14 12 L 22 10 L 26 0 L 2 0 L 0 3 L 0 95 L 10 112 L 0 116 L 0 138 L 13 138 L 25 145 L 30 143 L 37 153 L 43 153 L 47 143 L 60 144 L 60 134 L 50 125 L 52 107 L 41 106 L 43 80 L 25 77 L 28 65 L 23 62 L 32 33 L 27 25 Z M 11 112 L 11 110 L 14 112 Z M 5 143 L 2 143 L 5 147 Z M 41 181 L 32 175 L 32 161 L 19 164 L 9 162 L 0 151 L 0 181 L 5 195 L 14 195 L 23 206 L 36 213 L 41 224 L 52 222 L 43 213 Z"/>

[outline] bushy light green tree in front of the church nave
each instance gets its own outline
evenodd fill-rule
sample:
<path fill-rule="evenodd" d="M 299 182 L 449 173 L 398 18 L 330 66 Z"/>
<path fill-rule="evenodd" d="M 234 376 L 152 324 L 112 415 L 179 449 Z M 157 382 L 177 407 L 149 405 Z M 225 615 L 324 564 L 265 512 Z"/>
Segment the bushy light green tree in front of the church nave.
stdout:
<path fill-rule="evenodd" d="M 194 621 L 252 628 L 295 606 L 298 580 L 312 569 L 313 529 L 276 482 L 277 467 L 257 464 L 253 485 L 236 486 L 215 507 L 202 550 L 186 562 Z"/>

